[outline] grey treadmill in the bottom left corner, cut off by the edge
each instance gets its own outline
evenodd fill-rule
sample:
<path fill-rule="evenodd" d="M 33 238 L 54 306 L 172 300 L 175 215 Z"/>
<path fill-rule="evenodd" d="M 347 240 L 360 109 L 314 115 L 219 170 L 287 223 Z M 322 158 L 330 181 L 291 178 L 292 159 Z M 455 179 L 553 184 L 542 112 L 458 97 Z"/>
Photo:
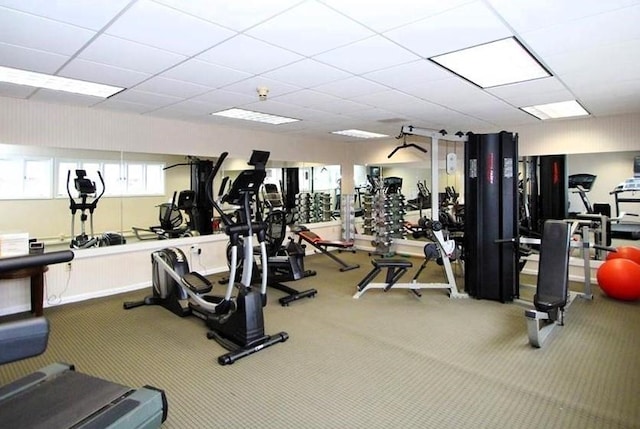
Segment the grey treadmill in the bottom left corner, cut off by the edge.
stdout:
<path fill-rule="evenodd" d="M 0 258 L 0 272 L 67 262 L 70 250 Z M 0 324 L 0 364 L 43 353 L 49 323 L 43 317 Z M 167 418 L 167 399 L 151 386 L 132 389 L 54 363 L 0 387 L 5 428 L 157 428 Z"/>

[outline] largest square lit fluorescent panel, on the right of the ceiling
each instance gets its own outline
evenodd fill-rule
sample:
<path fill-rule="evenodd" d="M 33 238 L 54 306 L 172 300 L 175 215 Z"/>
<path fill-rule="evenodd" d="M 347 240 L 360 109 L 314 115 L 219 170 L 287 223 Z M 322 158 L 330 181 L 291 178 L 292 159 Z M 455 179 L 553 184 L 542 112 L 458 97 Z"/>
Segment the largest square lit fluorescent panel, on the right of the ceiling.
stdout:
<path fill-rule="evenodd" d="M 551 76 L 513 37 L 429 59 L 481 88 Z"/>

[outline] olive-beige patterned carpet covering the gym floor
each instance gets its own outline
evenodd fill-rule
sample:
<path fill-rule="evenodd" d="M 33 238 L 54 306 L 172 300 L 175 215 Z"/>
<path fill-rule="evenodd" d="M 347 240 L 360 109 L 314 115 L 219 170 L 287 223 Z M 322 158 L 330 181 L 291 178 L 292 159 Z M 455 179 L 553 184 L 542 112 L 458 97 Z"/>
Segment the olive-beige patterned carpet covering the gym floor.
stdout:
<path fill-rule="evenodd" d="M 341 273 L 311 256 L 307 268 L 318 275 L 290 283 L 318 289 L 316 298 L 281 307 L 282 293 L 269 292 L 266 330 L 290 339 L 233 365 L 217 364 L 224 350 L 199 319 L 123 310 L 140 291 L 47 309 L 48 351 L 0 367 L 0 383 L 74 363 L 165 389 L 166 428 L 640 428 L 640 303 L 596 288 L 534 349 L 516 304 L 454 300 L 443 290 L 422 298 L 372 290 L 354 300 L 369 257 L 341 256 L 361 268 Z M 442 281 L 440 267 L 422 278 Z"/>

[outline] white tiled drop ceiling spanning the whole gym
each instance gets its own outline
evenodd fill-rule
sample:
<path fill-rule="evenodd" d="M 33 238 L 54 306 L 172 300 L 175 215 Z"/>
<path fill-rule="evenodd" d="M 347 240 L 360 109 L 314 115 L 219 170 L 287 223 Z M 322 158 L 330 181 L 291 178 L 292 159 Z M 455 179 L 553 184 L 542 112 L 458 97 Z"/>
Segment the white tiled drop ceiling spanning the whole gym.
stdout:
<path fill-rule="evenodd" d="M 640 112 L 640 0 L 0 0 L 0 65 L 126 88 L 0 96 L 323 139 L 538 123 L 569 99 Z M 481 89 L 427 58 L 515 36 L 552 74 Z M 266 87 L 266 101 L 257 88 Z M 300 119 L 212 117 L 239 107 Z"/>

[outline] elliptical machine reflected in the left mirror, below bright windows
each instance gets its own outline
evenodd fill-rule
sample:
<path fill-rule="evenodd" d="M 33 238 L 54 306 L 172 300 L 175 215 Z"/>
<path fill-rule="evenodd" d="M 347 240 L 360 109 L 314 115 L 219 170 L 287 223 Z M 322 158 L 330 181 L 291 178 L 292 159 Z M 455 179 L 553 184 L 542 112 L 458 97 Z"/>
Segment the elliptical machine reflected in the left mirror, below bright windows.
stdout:
<path fill-rule="evenodd" d="M 98 201 L 104 195 L 105 185 L 104 179 L 102 178 L 102 174 L 100 171 L 97 172 L 98 177 L 100 178 L 100 183 L 102 184 L 102 191 L 98 194 L 98 189 L 96 187 L 96 182 L 87 178 L 86 170 L 76 170 L 76 177 L 73 179 L 73 184 L 78 192 L 78 197 L 74 198 L 71 195 L 71 189 L 69 188 L 69 183 L 71 182 L 71 170 L 67 171 L 67 194 L 69 194 L 69 209 L 71 210 L 71 244 L 70 247 L 72 249 L 86 249 L 89 247 L 98 246 L 100 244 L 100 240 L 93 236 L 93 212 L 98 206 Z M 89 201 L 89 199 L 91 200 Z M 78 201 L 78 199 L 80 201 Z M 74 236 L 75 234 L 75 223 L 76 223 L 76 212 L 80 210 L 80 235 Z M 87 210 L 89 211 L 89 216 L 87 216 Z M 89 225 L 91 230 L 91 235 L 87 235 L 85 224 L 89 219 Z"/>

